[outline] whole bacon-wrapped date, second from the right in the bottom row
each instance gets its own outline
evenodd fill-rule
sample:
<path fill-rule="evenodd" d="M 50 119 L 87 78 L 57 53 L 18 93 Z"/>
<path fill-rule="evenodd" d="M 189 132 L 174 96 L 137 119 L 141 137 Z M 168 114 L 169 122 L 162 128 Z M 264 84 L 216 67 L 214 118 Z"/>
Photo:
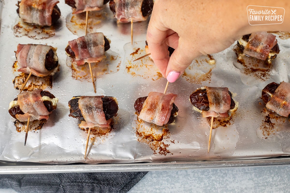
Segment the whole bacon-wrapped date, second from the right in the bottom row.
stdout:
<path fill-rule="evenodd" d="M 238 105 L 226 87 L 197 89 L 190 95 L 190 101 L 202 113 L 202 117 L 228 117 L 228 112 Z"/>

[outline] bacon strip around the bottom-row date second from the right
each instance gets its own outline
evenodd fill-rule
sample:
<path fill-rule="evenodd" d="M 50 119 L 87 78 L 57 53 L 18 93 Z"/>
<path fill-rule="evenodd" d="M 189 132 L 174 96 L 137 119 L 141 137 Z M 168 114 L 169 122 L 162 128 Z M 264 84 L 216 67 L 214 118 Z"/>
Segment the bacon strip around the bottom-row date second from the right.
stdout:
<path fill-rule="evenodd" d="M 209 111 L 202 111 L 202 117 L 228 117 L 231 96 L 227 87 L 205 87 L 209 99 Z"/>

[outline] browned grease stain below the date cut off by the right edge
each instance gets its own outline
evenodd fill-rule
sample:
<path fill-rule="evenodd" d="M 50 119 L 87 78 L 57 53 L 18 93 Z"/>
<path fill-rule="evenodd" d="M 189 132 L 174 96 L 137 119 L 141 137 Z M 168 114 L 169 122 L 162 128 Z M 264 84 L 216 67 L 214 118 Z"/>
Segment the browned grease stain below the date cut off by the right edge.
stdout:
<path fill-rule="evenodd" d="M 265 117 L 260 124 L 260 130 L 262 130 L 263 138 L 267 139 L 270 135 L 275 135 L 275 132 L 282 129 L 276 123 L 278 120 L 285 122 L 286 117 L 277 116 L 274 112 L 267 110 L 266 107 L 264 107 L 261 113 L 264 113 Z"/>

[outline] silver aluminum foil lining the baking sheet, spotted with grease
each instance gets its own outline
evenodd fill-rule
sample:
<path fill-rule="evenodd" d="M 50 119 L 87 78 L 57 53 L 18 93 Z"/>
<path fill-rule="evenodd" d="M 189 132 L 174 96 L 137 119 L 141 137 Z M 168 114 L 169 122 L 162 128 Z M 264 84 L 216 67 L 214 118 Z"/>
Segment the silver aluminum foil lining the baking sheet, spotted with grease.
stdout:
<path fill-rule="evenodd" d="M 270 82 L 289 82 L 289 39 L 278 39 L 281 52 L 273 62 L 266 80 L 245 75 L 233 63 L 236 61 L 233 46 L 211 56 L 202 56 L 193 61 L 185 74 L 169 84 L 167 92 L 178 95 L 175 104 L 179 108 L 176 122 L 168 127 L 152 127 L 139 123 L 133 104 L 138 97 L 150 91 L 163 92 L 166 79 L 162 78 L 153 62 L 144 58 L 147 22 L 134 23 L 134 43 L 131 45 L 130 24 L 117 25 L 108 6 L 101 14 L 105 23 L 92 23 L 91 30 L 103 32 L 111 41 L 106 53 L 108 68 L 98 73 L 97 94 L 115 96 L 119 111 L 114 129 L 106 135 L 91 136 L 87 159 L 84 159 L 87 133 L 77 126 L 79 121 L 68 117 L 68 101 L 76 95 L 95 95 L 89 78 L 83 81 L 72 77 L 72 69 L 64 48 L 68 41 L 84 35 L 81 25 L 75 25 L 74 34 L 68 30 L 66 21 L 71 21 L 71 9 L 64 2 L 58 4 L 61 21 L 55 35 L 46 39 L 28 36 L 16 37 L 14 26 L 19 21 L 16 14 L 17 1 L 3 1 L 1 17 L 1 65 L 0 65 L 0 160 L 28 161 L 39 163 L 132 163 L 141 161 L 201 161 L 228 159 L 255 159 L 289 155 L 289 119 L 277 117 L 264 110 L 260 99 L 261 90 Z M 104 13 L 105 12 L 105 13 Z M 102 21 L 101 21 L 102 22 Z M 90 31 L 89 31 L 90 32 Z M 31 36 L 30 36 L 31 37 Z M 42 129 L 28 133 L 17 132 L 13 119 L 8 114 L 9 102 L 18 90 L 13 88 L 17 73 L 12 70 L 17 44 L 48 44 L 57 47 L 60 71 L 53 76 L 52 88 L 48 90 L 59 98 L 54 111 Z M 135 51 L 138 51 L 136 54 Z M 110 60 L 110 56 L 115 58 Z M 209 60 L 215 59 L 215 64 Z M 120 63 L 120 64 L 119 64 Z M 113 64 L 113 65 L 111 65 Z M 119 65 L 118 65 L 119 64 Z M 106 64 L 104 64 L 106 66 Z M 113 67 L 112 67 L 113 66 Z M 87 67 L 84 67 L 87 68 Z M 224 86 L 237 93 L 238 111 L 229 120 L 215 119 L 212 145 L 207 153 L 209 120 L 193 111 L 189 102 L 192 91 L 201 86 Z M 222 124 L 224 123 L 224 124 Z M 223 126 L 222 126 L 223 125 Z M 137 135 L 141 130 L 144 135 Z M 147 134 L 162 141 L 146 139 Z"/>

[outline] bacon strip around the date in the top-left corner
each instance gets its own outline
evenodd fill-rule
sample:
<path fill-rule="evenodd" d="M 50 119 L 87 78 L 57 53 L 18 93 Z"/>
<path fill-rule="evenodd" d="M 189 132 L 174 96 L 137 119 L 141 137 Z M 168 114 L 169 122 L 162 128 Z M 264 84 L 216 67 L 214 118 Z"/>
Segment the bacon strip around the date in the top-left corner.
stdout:
<path fill-rule="evenodd" d="M 19 16 L 26 23 L 51 26 L 51 14 L 56 0 L 21 0 Z"/>

